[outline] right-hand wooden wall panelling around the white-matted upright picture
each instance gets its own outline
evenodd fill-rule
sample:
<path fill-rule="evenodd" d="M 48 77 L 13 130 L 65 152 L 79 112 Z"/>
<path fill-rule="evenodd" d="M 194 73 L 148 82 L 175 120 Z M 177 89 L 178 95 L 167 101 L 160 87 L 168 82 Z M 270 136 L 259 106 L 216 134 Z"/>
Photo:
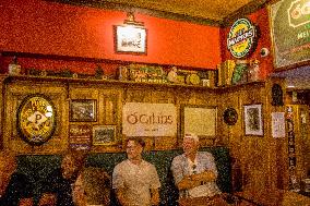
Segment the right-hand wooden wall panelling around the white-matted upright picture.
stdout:
<path fill-rule="evenodd" d="M 242 191 L 247 196 L 260 202 L 264 196 L 259 191 L 265 191 L 269 185 L 269 144 L 266 134 L 264 136 L 245 135 L 243 106 L 252 104 L 263 105 L 263 123 L 265 125 L 265 84 L 250 83 L 247 85 L 234 86 L 223 90 L 220 100 L 223 101 L 223 112 L 227 107 L 233 107 L 238 112 L 238 121 L 235 125 L 223 124 L 223 135 L 228 136 L 229 147 L 233 158 L 239 163 L 238 175 L 241 177 Z M 222 120 L 223 121 L 223 120 Z M 241 168 L 241 173 L 240 173 Z M 234 173 L 234 171 L 233 171 Z M 235 175 L 234 178 L 236 178 Z M 235 180 L 240 182 L 240 180 Z M 239 186 L 240 189 L 240 186 Z"/>

